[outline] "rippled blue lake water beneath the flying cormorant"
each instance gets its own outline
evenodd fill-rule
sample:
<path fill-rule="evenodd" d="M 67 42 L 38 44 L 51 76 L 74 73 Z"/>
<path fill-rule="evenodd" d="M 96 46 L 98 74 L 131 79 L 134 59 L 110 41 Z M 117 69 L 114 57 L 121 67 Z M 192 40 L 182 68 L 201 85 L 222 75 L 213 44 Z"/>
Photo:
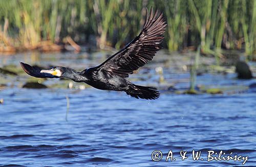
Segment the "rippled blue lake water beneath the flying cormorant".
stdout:
<path fill-rule="evenodd" d="M 233 73 L 206 73 L 197 77 L 197 85 L 224 87 L 223 94 L 173 93 L 164 87 L 174 85 L 182 91 L 189 86 L 188 71 L 180 70 L 189 59 L 182 55 L 168 58 L 160 54 L 157 57 L 161 58 L 156 58 L 131 78 L 137 84 L 161 89 L 160 98 L 153 101 L 94 88 L 21 88 L 30 78 L 25 74 L 17 77 L 15 83 L 8 82 L 0 91 L 0 98 L 4 99 L 4 104 L 0 105 L 0 165 L 256 165 L 256 88 L 249 88 L 256 80 L 237 80 Z M 25 61 L 82 69 L 102 62 L 101 57 L 102 53 L 20 54 L 0 59 L 2 66 Z M 166 82 L 163 84 L 158 83 L 157 66 L 164 67 Z M 44 84 L 57 82 L 63 81 L 53 79 Z M 70 102 L 68 121 L 66 97 Z M 152 160 L 155 150 L 163 154 L 160 161 Z M 175 160 L 166 162 L 170 150 Z M 181 150 L 187 151 L 184 160 L 181 160 Z M 193 160 L 193 150 L 201 151 L 199 160 Z M 207 151 L 210 150 L 218 154 L 223 151 L 224 156 L 231 152 L 232 157 L 248 156 L 248 160 L 244 165 L 244 160 L 208 162 Z"/>

